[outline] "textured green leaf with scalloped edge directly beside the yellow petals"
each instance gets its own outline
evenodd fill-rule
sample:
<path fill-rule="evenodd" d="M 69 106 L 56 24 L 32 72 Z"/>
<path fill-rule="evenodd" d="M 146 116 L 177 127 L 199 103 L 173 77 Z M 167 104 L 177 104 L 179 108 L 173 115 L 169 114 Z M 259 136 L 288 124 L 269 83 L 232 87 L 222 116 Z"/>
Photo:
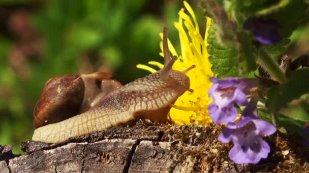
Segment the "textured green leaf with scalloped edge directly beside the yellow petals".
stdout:
<path fill-rule="evenodd" d="M 217 26 L 209 28 L 207 47 L 209 61 L 212 64 L 211 70 L 217 73 L 218 78 L 238 76 L 237 51 L 234 47 L 228 47 L 220 43 L 217 37 Z"/>

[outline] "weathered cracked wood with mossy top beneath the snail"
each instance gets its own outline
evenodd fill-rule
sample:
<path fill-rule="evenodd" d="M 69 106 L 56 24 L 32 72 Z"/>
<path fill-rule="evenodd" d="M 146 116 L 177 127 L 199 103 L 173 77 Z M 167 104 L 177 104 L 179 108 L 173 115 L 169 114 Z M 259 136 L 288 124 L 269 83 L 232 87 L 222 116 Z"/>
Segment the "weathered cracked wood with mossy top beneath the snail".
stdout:
<path fill-rule="evenodd" d="M 218 141 L 222 126 L 138 121 L 58 144 L 22 143 L 27 155 L 0 146 L 0 172 L 308 172 L 309 149 L 297 135 L 264 138 L 271 147 L 259 164 L 234 164 L 232 144 Z"/>

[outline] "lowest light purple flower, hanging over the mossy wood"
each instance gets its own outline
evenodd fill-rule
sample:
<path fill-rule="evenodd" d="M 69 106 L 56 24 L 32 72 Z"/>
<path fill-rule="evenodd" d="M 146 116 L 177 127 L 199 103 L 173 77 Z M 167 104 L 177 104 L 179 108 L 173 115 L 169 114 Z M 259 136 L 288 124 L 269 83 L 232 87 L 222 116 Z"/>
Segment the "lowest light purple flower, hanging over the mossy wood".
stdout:
<path fill-rule="evenodd" d="M 260 134 L 271 135 L 276 132 L 276 127 L 271 123 L 258 119 L 256 103 L 253 98 L 242 112 L 238 122 L 230 122 L 219 135 L 219 140 L 234 143 L 229 152 L 229 157 L 237 164 L 258 163 L 261 158 L 266 158 L 270 152 L 269 145 Z"/>

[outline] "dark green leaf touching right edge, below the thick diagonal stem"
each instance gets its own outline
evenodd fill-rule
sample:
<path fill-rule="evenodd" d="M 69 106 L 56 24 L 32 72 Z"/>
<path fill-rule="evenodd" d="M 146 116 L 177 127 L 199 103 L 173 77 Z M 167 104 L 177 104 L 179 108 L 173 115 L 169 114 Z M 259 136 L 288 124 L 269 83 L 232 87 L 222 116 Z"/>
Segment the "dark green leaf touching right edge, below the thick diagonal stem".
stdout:
<path fill-rule="evenodd" d="M 267 93 L 266 106 L 275 112 L 301 95 L 309 93 L 309 69 L 303 68 L 292 73 L 285 83 L 274 86 Z"/>

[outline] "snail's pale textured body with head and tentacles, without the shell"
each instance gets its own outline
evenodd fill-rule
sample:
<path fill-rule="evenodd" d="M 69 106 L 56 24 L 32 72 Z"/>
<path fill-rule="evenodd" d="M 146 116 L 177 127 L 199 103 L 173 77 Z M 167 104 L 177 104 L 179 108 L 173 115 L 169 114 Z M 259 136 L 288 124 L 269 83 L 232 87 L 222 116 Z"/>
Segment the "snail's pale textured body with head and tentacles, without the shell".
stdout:
<path fill-rule="evenodd" d="M 164 28 L 163 69 L 107 93 L 83 113 L 35 129 L 32 140 L 58 143 L 136 119 L 166 120 L 170 105 L 184 92 L 193 92 L 186 73 L 195 67 L 172 69 L 177 57 L 170 57 L 167 32 Z"/>

